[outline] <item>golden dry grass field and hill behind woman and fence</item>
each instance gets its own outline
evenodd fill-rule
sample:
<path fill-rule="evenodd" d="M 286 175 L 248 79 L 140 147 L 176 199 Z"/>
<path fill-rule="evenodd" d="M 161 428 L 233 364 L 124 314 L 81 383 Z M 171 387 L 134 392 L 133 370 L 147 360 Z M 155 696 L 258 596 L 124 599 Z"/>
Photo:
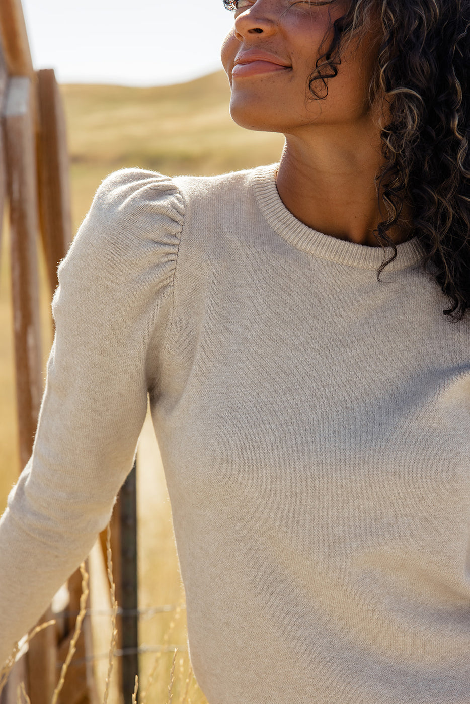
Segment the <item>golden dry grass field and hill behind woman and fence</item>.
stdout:
<path fill-rule="evenodd" d="M 87 212 L 99 182 L 113 170 L 137 166 L 168 175 L 210 175 L 278 161 L 283 146 L 283 138 L 278 134 L 248 132 L 232 122 L 228 112 L 228 81 L 223 73 L 169 87 L 65 85 L 61 90 L 68 122 L 74 230 Z M 1 512 L 8 490 L 19 471 L 6 227 L 1 239 L 0 257 Z M 40 271 L 45 369 L 51 345 L 51 291 L 47 289 L 41 261 Z M 183 591 L 178 576 L 171 510 L 158 448 L 148 422 L 140 443 L 137 485 L 140 608 L 176 605 L 183 598 Z M 103 586 L 106 585 L 105 575 L 97 551 L 94 552 L 91 569 L 92 585 L 96 585 L 92 593 L 92 606 L 100 608 L 100 605 L 106 605 L 107 596 L 104 593 L 106 586 Z M 106 643 L 111 628 L 109 618 L 99 618 L 95 624 L 95 654 L 98 656 L 98 689 L 102 692 L 107 669 Z M 172 620 L 174 628 L 168 633 Z M 183 699 L 187 678 L 184 608 L 177 620 L 171 613 L 142 618 L 141 643 L 154 646 L 165 642 L 165 638 L 168 646 L 181 646 L 175 660 L 173 686 L 173 702 L 177 703 Z M 148 704 L 168 700 L 172 658 L 171 652 L 161 655 L 154 686 L 149 689 Z M 141 656 L 141 686 L 144 689 L 155 662 L 154 653 Z M 192 704 L 205 702 L 194 685 L 189 698 Z M 110 701 L 118 704 L 119 700 L 114 686 Z"/>

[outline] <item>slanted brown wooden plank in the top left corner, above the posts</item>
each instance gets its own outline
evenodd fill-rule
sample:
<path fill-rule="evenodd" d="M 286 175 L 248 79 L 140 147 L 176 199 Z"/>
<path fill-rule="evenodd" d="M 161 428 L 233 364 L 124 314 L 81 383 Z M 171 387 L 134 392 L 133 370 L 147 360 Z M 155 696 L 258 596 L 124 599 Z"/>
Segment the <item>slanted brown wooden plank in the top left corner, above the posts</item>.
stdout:
<path fill-rule="evenodd" d="M 0 0 L 0 36 L 9 75 L 32 78 L 34 70 L 21 0 Z"/>

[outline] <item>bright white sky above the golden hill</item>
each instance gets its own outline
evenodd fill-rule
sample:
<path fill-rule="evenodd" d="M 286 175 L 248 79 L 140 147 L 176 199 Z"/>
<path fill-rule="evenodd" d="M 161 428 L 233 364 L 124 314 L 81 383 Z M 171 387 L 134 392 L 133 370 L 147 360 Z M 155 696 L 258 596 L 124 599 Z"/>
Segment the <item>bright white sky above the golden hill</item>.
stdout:
<path fill-rule="evenodd" d="M 60 83 L 151 86 L 221 69 L 222 0 L 22 0 L 35 69 Z"/>

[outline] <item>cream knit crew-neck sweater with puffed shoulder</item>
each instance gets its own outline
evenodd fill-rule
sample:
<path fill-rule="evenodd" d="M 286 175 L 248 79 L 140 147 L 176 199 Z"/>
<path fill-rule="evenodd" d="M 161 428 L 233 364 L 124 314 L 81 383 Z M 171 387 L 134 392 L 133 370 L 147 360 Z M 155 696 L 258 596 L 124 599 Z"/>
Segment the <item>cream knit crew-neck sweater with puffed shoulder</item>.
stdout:
<path fill-rule="evenodd" d="M 210 704 L 470 704 L 469 322 L 414 240 L 378 282 L 274 172 L 99 188 L 0 524 L 0 660 L 108 522 L 149 391 Z"/>

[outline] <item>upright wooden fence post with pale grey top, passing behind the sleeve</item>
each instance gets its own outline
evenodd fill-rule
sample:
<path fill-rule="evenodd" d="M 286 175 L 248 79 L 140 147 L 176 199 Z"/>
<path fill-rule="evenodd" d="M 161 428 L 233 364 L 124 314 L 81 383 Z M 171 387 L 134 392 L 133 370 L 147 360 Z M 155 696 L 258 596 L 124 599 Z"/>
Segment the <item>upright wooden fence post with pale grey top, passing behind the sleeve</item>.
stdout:
<path fill-rule="evenodd" d="M 16 398 L 23 467 L 32 450 L 42 395 L 42 360 L 37 281 L 37 179 L 32 84 L 8 83 L 3 127 L 10 203 L 11 284 Z M 49 614 L 46 616 L 48 617 Z M 31 704 L 49 703 L 54 692 L 56 649 L 51 629 L 35 636 L 28 653 Z"/>

